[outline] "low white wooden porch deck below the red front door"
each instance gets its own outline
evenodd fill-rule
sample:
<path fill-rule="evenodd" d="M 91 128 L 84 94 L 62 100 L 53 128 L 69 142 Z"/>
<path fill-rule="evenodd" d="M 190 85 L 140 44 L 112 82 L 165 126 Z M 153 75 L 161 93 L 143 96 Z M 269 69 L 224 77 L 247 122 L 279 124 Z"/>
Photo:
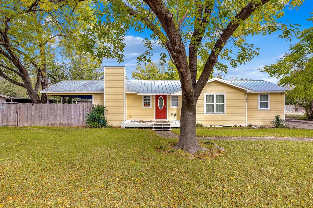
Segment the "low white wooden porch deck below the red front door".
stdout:
<path fill-rule="evenodd" d="M 172 128 L 179 128 L 180 120 L 125 120 L 121 122 L 121 127 L 152 128 L 156 124 L 170 124 Z"/>

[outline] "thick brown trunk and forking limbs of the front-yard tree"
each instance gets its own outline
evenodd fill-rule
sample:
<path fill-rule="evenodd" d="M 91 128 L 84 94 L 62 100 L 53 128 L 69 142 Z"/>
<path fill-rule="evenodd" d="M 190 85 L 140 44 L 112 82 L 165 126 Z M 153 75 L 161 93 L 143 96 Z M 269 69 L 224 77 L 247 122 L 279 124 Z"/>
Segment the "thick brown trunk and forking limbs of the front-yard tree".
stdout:
<path fill-rule="evenodd" d="M 219 52 L 223 49 L 228 39 L 232 36 L 233 32 L 235 32 L 235 30 L 238 28 L 241 20 L 244 21 L 245 19 L 247 19 L 254 12 L 255 8 L 261 7 L 265 3 L 269 2 L 269 0 L 261 0 L 257 4 L 248 2 L 248 4 L 243 7 L 239 13 L 236 14 L 233 20 L 228 23 L 227 27 L 223 29 L 223 32 L 218 37 L 218 40 L 215 42 L 214 47 L 206 63 L 204 64 L 203 72 L 201 73 L 198 82 L 196 82 L 198 57 L 197 48 L 201 43 L 204 32 L 202 31 L 202 33 L 200 33 L 200 27 L 195 27 L 194 29 L 192 41 L 189 45 L 190 63 L 188 65 L 184 41 L 180 34 L 179 25 L 178 28 L 176 27 L 172 12 L 168 9 L 168 7 L 165 6 L 164 1 L 162 0 L 144 0 L 144 2 L 146 2 L 146 4 L 159 19 L 162 25 L 162 29 L 165 31 L 166 34 L 162 33 L 161 30 L 156 29 L 153 23 L 148 21 L 148 18 L 145 19 L 145 21 L 143 22 L 146 22 L 145 24 L 150 27 L 155 32 L 155 34 L 160 37 L 160 40 L 163 40 L 163 43 L 167 46 L 168 53 L 171 57 L 172 62 L 177 67 L 179 79 L 181 81 L 183 97 L 181 110 L 181 129 L 178 144 L 174 148 L 179 148 L 190 153 L 196 153 L 198 150 L 206 150 L 196 140 L 197 100 L 204 86 L 208 82 L 215 63 L 218 61 Z M 197 6 L 200 6 L 200 4 Z M 203 7 L 198 7 L 197 12 L 199 17 L 195 18 L 194 21 L 198 22 L 199 25 L 205 25 L 207 22 L 207 17 L 203 17 L 202 15 Z M 211 5 L 207 5 L 205 7 L 204 13 L 211 13 Z M 136 16 L 138 13 L 130 12 L 130 14 Z M 205 30 L 205 27 L 202 29 Z M 168 37 L 167 41 L 164 40 L 164 35 Z M 170 44 L 167 45 L 167 43 Z"/>

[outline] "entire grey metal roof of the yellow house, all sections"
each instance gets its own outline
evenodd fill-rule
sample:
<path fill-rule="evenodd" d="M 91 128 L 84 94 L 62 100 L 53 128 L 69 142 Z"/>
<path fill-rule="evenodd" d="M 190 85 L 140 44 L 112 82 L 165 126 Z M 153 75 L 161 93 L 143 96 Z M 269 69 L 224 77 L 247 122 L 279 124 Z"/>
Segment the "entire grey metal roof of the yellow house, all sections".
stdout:
<path fill-rule="evenodd" d="M 217 78 L 213 79 L 219 81 Z M 264 80 L 223 80 L 223 82 L 229 82 L 232 85 L 253 92 L 283 92 L 288 90 L 285 87 L 279 87 L 271 82 Z M 127 92 L 134 92 L 139 94 L 175 93 L 181 91 L 181 85 L 179 80 L 127 81 L 126 90 Z M 62 81 L 40 92 L 103 92 L 103 80 Z"/>

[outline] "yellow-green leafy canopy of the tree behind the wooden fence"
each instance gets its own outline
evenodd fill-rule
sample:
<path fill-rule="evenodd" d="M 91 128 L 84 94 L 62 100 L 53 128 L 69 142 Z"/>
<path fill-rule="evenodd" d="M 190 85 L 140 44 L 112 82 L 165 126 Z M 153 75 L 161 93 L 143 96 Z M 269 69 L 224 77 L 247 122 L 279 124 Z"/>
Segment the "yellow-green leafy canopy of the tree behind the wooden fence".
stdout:
<path fill-rule="evenodd" d="M 71 60 L 69 68 L 73 68 L 81 56 L 76 49 L 80 45 L 80 33 L 88 27 L 87 18 L 94 12 L 92 3 L 91 0 L 2 1 L 0 76 L 26 88 L 32 102 L 46 102 L 46 96 L 40 98 L 38 90 L 48 87 L 48 75 L 52 79 L 57 76 L 55 66 L 60 63 L 56 58 Z M 90 57 L 79 60 L 80 65 L 90 60 L 92 64 L 98 62 Z M 94 68 L 85 70 L 89 73 Z"/>

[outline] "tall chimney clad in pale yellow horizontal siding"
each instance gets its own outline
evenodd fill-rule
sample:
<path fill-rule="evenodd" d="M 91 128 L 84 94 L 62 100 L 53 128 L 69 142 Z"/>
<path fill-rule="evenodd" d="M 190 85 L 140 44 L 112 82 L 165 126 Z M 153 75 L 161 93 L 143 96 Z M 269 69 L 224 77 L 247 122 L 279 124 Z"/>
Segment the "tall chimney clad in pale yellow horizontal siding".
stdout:
<path fill-rule="evenodd" d="M 105 112 L 105 117 L 109 125 L 121 126 L 121 122 L 125 120 L 126 69 L 125 67 L 105 67 L 104 74 L 104 104 L 108 110 Z"/>

